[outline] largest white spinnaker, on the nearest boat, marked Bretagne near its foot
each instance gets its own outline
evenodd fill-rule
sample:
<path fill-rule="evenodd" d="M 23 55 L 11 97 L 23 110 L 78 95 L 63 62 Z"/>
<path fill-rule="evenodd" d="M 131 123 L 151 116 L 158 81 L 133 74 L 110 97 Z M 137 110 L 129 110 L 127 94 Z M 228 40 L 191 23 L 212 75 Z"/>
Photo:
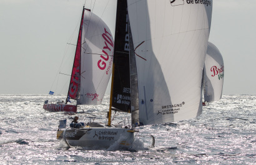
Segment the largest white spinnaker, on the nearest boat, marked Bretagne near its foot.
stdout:
<path fill-rule="evenodd" d="M 137 65 L 140 125 L 199 116 L 212 0 L 127 2 Z"/>

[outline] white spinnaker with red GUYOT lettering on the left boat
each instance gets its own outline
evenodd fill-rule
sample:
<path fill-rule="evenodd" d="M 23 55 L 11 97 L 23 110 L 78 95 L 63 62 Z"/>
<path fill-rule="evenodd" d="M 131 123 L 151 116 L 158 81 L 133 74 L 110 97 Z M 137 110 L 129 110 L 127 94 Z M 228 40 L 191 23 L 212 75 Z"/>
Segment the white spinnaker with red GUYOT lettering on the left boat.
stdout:
<path fill-rule="evenodd" d="M 77 103 L 99 105 L 112 73 L 114 39 L 105 22 L 87 10 L 81 49 L 81 88 Z"/>

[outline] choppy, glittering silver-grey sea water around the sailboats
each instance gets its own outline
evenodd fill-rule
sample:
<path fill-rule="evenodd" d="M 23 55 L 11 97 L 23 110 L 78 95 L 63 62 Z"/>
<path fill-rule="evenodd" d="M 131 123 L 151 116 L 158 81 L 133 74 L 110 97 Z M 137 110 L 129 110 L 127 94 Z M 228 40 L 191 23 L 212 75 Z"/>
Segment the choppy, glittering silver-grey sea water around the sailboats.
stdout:
<path fill-rule="evenodd" d="M 130 149 L 68 148 L 56 131 L 59 120 L 69 124 L 74 115 L 45 111 L 47 99 L 0 95 L 0 164 L 256 164 L 256 95 L 224 95 L 197 118 L 140 127 Z M 79 121 L 105 124 L 108 106 L 109 97 L 100 106 L 81 106 Z M 117 113 L 113 123 L 125 117 Z"/>

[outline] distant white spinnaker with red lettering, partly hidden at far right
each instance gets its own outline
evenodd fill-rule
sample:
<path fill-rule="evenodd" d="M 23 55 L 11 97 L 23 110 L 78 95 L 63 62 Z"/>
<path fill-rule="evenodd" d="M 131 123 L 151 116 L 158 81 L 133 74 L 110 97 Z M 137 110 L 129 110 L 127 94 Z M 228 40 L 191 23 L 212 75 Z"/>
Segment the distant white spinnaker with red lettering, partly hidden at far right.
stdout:
<path fill-rule="evenodd" d="M 219 49 L 208 43 L 204 65 L 204 101 L 219 101 L 224 83 L 224 62 Z"/>

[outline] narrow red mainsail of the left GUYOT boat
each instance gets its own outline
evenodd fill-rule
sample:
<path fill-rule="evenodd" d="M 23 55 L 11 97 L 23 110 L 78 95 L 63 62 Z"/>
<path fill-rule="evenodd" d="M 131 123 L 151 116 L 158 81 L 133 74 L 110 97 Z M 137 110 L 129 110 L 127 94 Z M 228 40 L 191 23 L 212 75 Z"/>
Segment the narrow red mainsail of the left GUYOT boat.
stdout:
<path fill-rule="evenodd" d="M 82 18 L 81 18 L 81 24 L 77 39 L 77 45 L 76 45 L 76 55 L 74 58 L 74 65 L 72 68 L 72 74 L 71 74 L 71 80 L 69 83 L 69 97 L 76 100 L 77 98 L 77 92 L 79 92 L 80 87 L 80 68 L 81 68 L 81 37 L 82 37 L 82 22 L 84 20 L 84 9 L 82 10 Z"/>

